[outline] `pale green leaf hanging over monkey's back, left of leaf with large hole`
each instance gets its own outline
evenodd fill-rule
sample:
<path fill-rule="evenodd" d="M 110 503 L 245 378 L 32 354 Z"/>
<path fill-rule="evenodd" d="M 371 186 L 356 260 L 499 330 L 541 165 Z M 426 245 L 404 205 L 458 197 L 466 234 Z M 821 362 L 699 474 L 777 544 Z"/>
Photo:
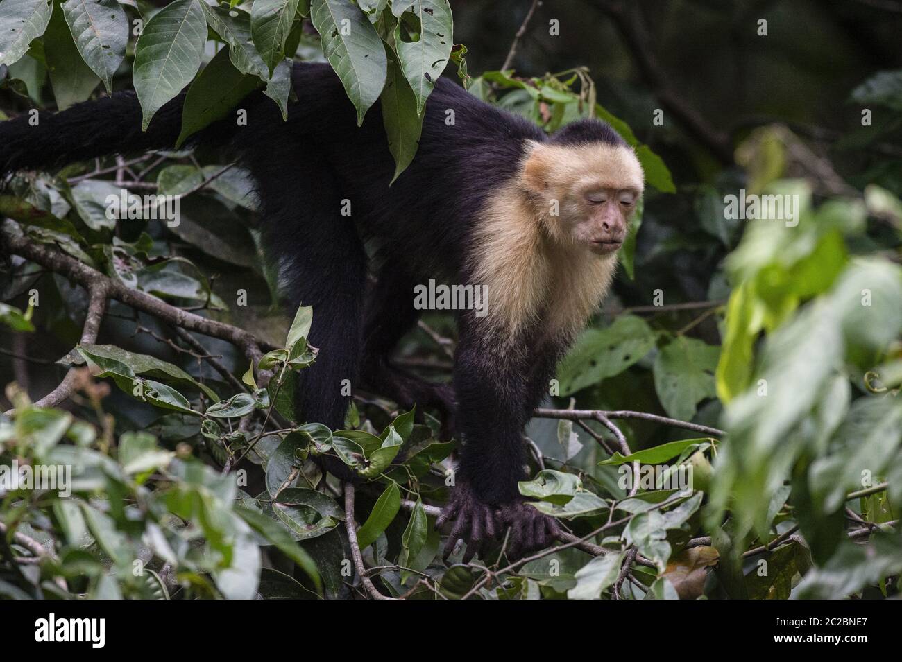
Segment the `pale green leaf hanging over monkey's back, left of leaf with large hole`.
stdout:
<path fill-rule="evenodd" d="M 326 59 L 357 110 L 357 125 L 382 94 L 388 60 L 379 33 L 351 0 L 313 0 L 310 20 Z"/>

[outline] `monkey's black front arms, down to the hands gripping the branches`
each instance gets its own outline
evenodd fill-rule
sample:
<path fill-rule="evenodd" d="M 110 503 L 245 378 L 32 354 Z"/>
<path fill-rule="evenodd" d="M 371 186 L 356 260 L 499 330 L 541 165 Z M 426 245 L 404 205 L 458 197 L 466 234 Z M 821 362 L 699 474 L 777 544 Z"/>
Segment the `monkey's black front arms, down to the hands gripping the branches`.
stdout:
<path fill-rule="evenodd" d="M 538 404 L 541 385 L 547 383 L 544 356 L 523 346 L 502 350 L 486 345 L 482 334 L 472 329 L 462 332 L 455 391 L 464 449 L 455 490 L 437 522 L 455 521 L 446 554 L 461 539 L 467 543 L 468 559 L 484 540 L 507 527 L 512 556 L 545 548 L 557 536 L 557 521 L 524 503 L 517 487 L 527 477 L 523 427 Z"/>

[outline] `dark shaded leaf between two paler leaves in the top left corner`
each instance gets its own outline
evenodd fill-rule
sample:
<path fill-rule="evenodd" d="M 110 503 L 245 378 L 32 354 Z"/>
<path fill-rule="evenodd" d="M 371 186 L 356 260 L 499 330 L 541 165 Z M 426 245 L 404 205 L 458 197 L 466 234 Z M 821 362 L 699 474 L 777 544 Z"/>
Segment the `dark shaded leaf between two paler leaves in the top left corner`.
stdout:
<path fill-rule="evenodd" d="M 72 33 L 63 17 L 61 0 L 53 3 L 53 15 L 44 33 L 44 58 L 51 77 L 53 96 L 60 110 L 85 101 L 99 78 L 81 59 Z"/>

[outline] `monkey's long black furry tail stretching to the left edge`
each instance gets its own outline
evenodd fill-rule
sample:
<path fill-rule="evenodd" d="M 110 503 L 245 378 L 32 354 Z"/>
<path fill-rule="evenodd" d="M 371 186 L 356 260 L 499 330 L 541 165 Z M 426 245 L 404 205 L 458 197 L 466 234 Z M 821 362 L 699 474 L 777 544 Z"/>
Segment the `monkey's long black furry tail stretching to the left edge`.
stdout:
<path fill-rule="evenodd" d="M 142 112 L 133 92 L 118 92 L 60 113 L 23 113 L 0 122 L 0 174 L 32 168 L 55 168 L 72 161 L 109 154 L 171 149 L 181 131 L 184 93 L 154 115 L 141 130 Z M 194 142 L 215 143 L 228 136 L 212 126 Z"/>

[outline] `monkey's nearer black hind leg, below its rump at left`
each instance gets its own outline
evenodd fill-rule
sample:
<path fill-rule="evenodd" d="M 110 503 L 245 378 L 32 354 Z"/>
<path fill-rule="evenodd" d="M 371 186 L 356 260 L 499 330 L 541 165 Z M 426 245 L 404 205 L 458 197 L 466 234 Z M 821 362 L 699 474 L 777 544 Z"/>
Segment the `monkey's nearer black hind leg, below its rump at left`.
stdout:
<path fill-rule="evenodd" d="M 276 262 L 290 314 L 299 305 L 313 306 L 308 341 L 319 353 L 312 367 L 296 373 L 298 422 L 336 430 L 344 427 L 360 369 L 366 254 L 354 220 L 341 213 L 345 195 L 327 163 L 306 141 L 291 147 L 280 152 L 291 157 L 279 172 L 254 172 L 264 246 Z"/>

